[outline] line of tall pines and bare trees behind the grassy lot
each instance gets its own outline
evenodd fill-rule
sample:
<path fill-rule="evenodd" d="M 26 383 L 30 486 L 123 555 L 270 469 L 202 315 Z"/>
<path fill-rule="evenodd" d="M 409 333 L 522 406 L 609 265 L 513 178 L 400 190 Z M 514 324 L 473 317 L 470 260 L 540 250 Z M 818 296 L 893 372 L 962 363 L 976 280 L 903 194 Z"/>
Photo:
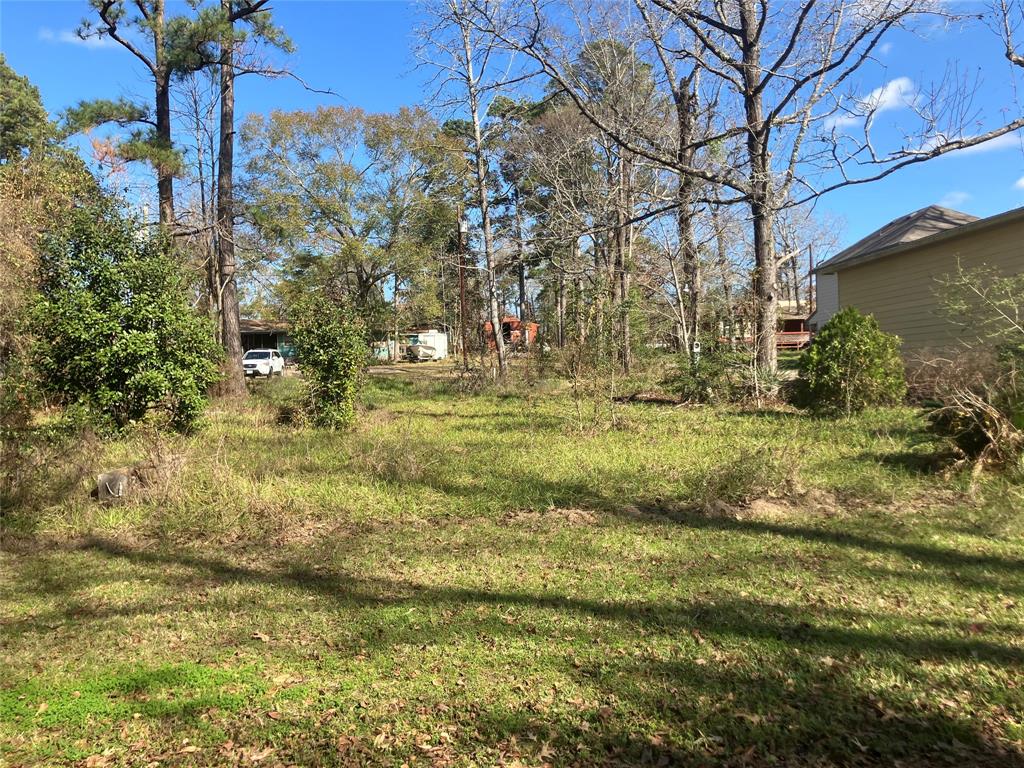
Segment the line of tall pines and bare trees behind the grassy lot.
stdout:
<path fill-rule="evenodd" d="M 142 62 L 153 99 L 83 102 L 61 128 L 114 126 L 96 158 L 153 168 L 228 391 L 243 311 L 287 318 L 310 293 L 378 339 L 466 324 L 485 348 L 482 323 L 512 310 L 625 372 L 651 347 L 723 338 L 772 372 L 780 307 L 807 313 L 814 254 L 835 245 L 816 200 L 1024 126 L 1018 106 L 979 131 L 950 78 L 906 99 L 913 124 L 892 139 L 872 130 L 881 91 L 858 91 L 889 36 L 937 20 L 989 25 L 1020 66 L 1010 0 L 970 16 L 927 0 L 431 0 L 427 103 L 238 126 L 238 78 L 298 80 L 272 61 L 293 46 L 266 0 L 90 3 L 79 34 Z"/>

